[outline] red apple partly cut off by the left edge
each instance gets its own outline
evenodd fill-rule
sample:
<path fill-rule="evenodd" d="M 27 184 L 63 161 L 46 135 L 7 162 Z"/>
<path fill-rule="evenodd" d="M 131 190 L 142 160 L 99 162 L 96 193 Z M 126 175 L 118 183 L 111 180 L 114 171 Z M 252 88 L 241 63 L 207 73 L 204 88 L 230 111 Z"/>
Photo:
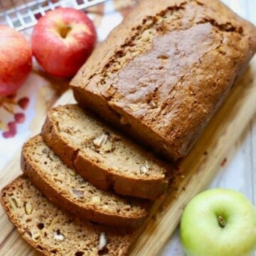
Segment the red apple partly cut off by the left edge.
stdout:
<path fill-rule="evenodd" d="M 14 28 L 0 25 L 0 96 L 11 95 L 31 71 L 32 51 Z"/>

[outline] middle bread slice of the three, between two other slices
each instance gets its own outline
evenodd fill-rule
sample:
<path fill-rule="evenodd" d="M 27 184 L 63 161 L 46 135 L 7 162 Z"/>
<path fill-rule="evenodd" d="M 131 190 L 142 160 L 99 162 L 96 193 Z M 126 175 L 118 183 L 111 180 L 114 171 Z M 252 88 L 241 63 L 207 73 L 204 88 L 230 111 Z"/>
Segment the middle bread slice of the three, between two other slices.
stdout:
<path fill-rule="evenodd" d="M 149 201 L 102 191 L 69 169 L 43 142 L 29 139 L 21 152 L 24 174 L 55 205 L 97 223 L 137 227 L 146 218 Z"/>

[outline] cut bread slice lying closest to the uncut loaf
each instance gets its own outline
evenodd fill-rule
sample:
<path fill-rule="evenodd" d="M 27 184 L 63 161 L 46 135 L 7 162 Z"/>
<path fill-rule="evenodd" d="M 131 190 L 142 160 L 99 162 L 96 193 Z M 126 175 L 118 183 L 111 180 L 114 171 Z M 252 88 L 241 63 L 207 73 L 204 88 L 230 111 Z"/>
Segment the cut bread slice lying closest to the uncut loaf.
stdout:
<path fill-rule="evenodd" d="M 42 137 L 65 164 L 98 188 L 155 199 L 168 186 L 170 165 L 78 105 L 50 110 Z"/>

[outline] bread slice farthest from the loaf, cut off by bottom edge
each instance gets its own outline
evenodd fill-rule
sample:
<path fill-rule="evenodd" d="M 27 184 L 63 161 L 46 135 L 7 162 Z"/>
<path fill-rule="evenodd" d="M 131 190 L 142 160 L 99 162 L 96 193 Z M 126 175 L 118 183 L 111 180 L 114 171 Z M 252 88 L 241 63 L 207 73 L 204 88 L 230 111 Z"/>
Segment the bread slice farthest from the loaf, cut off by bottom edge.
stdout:
<path fill-rule="evenodd" d="M 118 233 L 53 206 L 20 176 L 1 191 L 1 205 L 22 237 L 44 255 L 127 255 L 132 233 Z"/>

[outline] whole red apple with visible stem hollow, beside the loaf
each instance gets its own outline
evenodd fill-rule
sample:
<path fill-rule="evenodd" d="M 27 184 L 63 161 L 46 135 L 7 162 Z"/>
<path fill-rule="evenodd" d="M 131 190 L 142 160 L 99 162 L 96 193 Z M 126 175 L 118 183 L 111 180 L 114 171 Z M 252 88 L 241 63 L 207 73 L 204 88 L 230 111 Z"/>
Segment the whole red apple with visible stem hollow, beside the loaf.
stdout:
<path fill-rule="evenodd" d="M 92 53 L 96 31 L 90 18 L 72 8 L 48 11 L 33 29 L 32 50 L 47 73 L 69 78 Z"/>

